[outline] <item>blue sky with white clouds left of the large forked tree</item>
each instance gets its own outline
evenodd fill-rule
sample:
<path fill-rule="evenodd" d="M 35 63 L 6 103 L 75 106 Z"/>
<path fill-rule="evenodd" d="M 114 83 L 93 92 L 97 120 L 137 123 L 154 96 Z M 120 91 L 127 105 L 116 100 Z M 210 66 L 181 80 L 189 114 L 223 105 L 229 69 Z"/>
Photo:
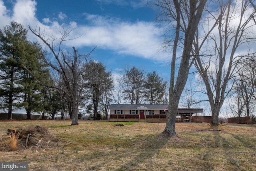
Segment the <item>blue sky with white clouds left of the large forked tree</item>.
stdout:
<path fill-rule="evenodd" d="M 0 0 L 0 28 L 16 21 L 28 28 L 40 26 L 56 33 L 60 26 L 74 28 L 75 40 L 66 43 L 80 54 L 97 46 L 92 59 L 118 74 L 126 66 L 156 70 L 168 80 L 170 58 L 160 51 L 164 29 L 155 21 L 156 9 L 146 0 Z M 38 41 L 29 32 L 28 39 Z M 40 41 L 39 41 L 40 42 Z M 40 42 L 41 43 L 41 42 Z"/>

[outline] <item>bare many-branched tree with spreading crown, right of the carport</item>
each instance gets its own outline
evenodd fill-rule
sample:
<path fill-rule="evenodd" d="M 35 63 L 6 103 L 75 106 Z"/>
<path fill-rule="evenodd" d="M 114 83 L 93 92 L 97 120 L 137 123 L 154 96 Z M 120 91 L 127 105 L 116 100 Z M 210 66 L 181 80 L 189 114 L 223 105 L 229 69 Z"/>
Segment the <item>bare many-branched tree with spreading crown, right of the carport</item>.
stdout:
<path fill-rule="evenodd" d="M 216 11 L 209 12 L 210 18 L 207 23 L 215 22 L 211 27 L 209 25 L 209 32 L 206 32 L 206 36 L 202 40 L 202 44 L 199 46 L 198 36 L 195 42 L 196 55 L 202 52 L 202 47 L 208 46 L 208 51 L 213 56 L 197 56 L 195 66 L 204 81 L 206 88 L 206 95 L 211 107 L 212 124 L 219 123 L 220 109 L 227 97 L 230 87 L 228 85 L 230 80 L 235 76 L 235 68 L 240 60 L 248 54 L 236 54 L 238 48 L 244 44 L 255 41 L 250 37 L 253 24 L 252 18 L 255 15 L 247 14 L 246 10 L 250 9 L 250 3 L 248 0 L 244 1 L 231 1 L 226 4 L 222 1 L 218 3 L 220 8 L 218 14 Z M 215 28 L 214 28 L 215 27 Z M 213 29 L 214 28 L 214 29 Z M 213 30 L 215 32 L 213 32 Z M 205 49 L 204 49 L 205 50 Z M 232 83 L 231 83 L 232 84 Z"/>

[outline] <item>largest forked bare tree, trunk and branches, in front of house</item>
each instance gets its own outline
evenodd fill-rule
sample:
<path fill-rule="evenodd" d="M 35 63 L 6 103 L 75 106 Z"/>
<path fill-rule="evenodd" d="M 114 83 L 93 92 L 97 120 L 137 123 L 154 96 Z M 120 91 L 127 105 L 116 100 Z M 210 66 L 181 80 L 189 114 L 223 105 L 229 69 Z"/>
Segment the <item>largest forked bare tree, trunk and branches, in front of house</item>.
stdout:
<path fill-rule="evenodd" d="M 174 31 L 174 40 L 170 38 L 166 39 L 166 46 L 172 46 L 172 62 L 168 113 L 166 115 L 166 127 L 163 133 L 168 133 L 171 136 L 176 135 L 175 121 L 178 104 L 192 64 L 192 44 L 206 2 L 207 0 L 157 0 L 156 3 L 152 4 L 160 7 L 162 10 L 159 16 L 160 19 L 162 18 L 162 21 L 173 24 L 174 27 L 172 28 L 176 28 L 176 30 L 171 30 Z M 167 33 L 166 36 L 168 36 Z M 182 48 L 182 57 L 175 82 L 177 50 L 179 47 Z"/>

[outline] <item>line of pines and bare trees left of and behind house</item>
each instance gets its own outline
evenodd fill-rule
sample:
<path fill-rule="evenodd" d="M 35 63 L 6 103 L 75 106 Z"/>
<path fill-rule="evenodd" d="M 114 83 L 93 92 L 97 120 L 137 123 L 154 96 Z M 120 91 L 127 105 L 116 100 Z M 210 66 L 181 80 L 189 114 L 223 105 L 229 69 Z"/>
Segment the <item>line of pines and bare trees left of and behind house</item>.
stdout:
<path fill-rule="evenodd" d="M 90 58 L 93 50 L 80 55 L 75 47 L 73 52 L 61 49 L 68 30 L 63 30 L 58 46 L 53 46 L 53 37 L 49 43 L 40 32 L 30 30 L 48 51 L 27 40 L 28 30 L 22 24 L 11 22 L 0 30 L 0 100 L 1 109 L 8 110 L 8 119 L 18 109 L 26 109 L 28 119 L 31 112 L 48 114 L 51 119 L 61 114 L 63 119 L 68 111 L 72 124 L 78 124 L 81 109 L 100 119 L 101 112 L 107 117 L 110 103 L 167 103 L 166 81 L 156 71 L 127 67 L 116 88 L 112 73 Z"/>

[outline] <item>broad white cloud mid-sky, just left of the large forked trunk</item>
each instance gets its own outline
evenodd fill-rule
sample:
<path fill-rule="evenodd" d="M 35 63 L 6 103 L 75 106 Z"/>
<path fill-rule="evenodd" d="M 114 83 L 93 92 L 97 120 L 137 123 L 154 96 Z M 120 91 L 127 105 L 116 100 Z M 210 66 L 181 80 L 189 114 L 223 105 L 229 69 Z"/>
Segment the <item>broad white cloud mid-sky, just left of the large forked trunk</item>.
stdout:
<path fill-rule="evenodd" d="M 162 29 L 153 22 L 122 22 L 118 18 L 86 14 L 88 25 L 76 28 L 82 35 L 70 42 L 73 46 L 98 46 L 120 54 L 130 54 L 152 60 L 166 60 L 166 54 L 158 53 L 162 44 Z"/>

